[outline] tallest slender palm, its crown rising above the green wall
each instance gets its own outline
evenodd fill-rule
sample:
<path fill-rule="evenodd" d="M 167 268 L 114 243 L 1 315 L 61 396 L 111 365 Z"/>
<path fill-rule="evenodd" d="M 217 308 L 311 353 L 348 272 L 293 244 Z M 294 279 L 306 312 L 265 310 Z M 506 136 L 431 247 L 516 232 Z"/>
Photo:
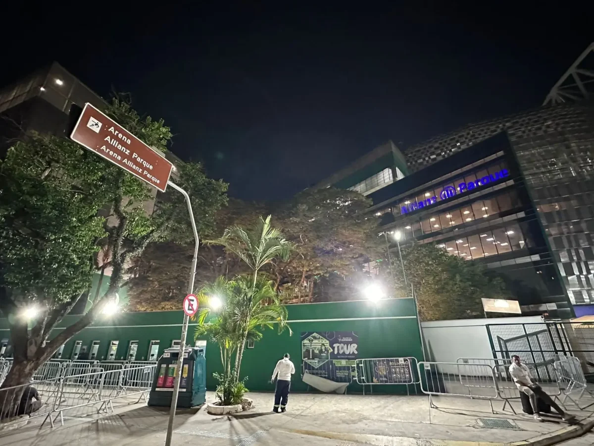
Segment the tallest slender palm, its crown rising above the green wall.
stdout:
<path fill-rule="evenodd" d="M 266 220 L 260 217 L 258 223 L 250 231 L 246 231 L 244 228 L 233 226 L 226 228 L 225 232 L 223 233 L 223 237 L 217 238 L 216 240 L 205 241 L 207 244 L 220 244 L 225 247 L 225 249 L 235 253 L 235 255 L 243 260 L 253 272 L 253 278 L 251 281 L 252 290 L 249 292 L 247 289 L 245 290 L 245 299 L 247 300 L 244 304 L 245 312 L 242 313 L 241 321 L 238 319 L 238 324 L 243 332 L 240 337 L 240 344 L 238 346 L 237 356 L 235 359 L 235 373 L 237 379 L 239 379 L 239 366 L 241 366 L 245 342 L 248 338 L 249 321 L 252 319 L 251 312 L 254 309 L 252 301 L 257 298 L 258 294 L 263 292 L 263 288 L 257 290 L 256 287 L 258 271 L 260 271 L 264 265 L 272 262 L 272 260 L 277 257 L 287 260 L 289 258 L 289 254 L 294 249 L 294 245 L 290 243 L 290 241 L 285 240 L 282 232 L 270 225 L 271 218 L 271 215 L 268 215 Z M 274 299 L 278 299 L 274 290 L 272 290 L 272 293 L 270 293 L 270 296 L 268 297 L 273 302 Z M 264 303 L 265 301 L 260 301 L 258 305 L 263 305 Z"/>

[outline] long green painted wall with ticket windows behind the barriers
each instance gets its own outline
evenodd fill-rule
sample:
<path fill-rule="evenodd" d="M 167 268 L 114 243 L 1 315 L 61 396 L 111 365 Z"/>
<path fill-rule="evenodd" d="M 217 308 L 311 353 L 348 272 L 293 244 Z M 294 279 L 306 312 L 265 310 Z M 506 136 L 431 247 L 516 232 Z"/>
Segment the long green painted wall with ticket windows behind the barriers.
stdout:
<path fill-rule="evenodd" d="M 300 334 L 305 331 L 355 331 L 359 337 L 358 353 L 360 358 L 413 356 L 422 360 L 421 337 L 415 317 L 415 304 L 412 299 L 389 299 L 377 302 L 346 301 L 287 306 L 289 325 L 293 330 L 277 334 L 276 330 L 264 332 L 263 339 L 253 349 L 247 349 L 242 361 L 241 375 L 248 376 L 247 387 L 252 391 L 272 391 L 270 376 L 277 360 L 284 353 L 289 353 L 295 363 L 293 391 L 307 391 L 307 385 L 301 381 L 301 341 Z M 67 316 L 59 325 L 64 328 L 76 320 L 76 316 Z M 120 313 L 102 315 L 93 325 L 87 327 L 70 340 L 63 358 L 71 356 L 74 341 L 83 341 L 83 346 L 90 347 L 92 341 L 101 341 L 99 360 L 105 359 L 109 343 L 119 340 L 116 359 L 124 360 L 129 341 L 138 341 L 137 360 L 145 360 L 151 340 L 160 341 L 159 354 L 171 346 L 172 340 L 179 339 L 183 312 Z M 190 321 L 187 344 L 194 345 L 195 323 Z M 0 319 L 0 337 L 9 338 L 7 321 Z M 214 389 L 216 382 L 213 372 L 220 371 L 220 355 L 217 344 L 208 340 L 206 348 L 207 387 Z M 403 386 L 375 386 L 377 391 L 406 392 Z M 374 391 L 376 391 L 374 388 Z M 349 392 L 361 391 L 356 385 L 350 385 Z"/>

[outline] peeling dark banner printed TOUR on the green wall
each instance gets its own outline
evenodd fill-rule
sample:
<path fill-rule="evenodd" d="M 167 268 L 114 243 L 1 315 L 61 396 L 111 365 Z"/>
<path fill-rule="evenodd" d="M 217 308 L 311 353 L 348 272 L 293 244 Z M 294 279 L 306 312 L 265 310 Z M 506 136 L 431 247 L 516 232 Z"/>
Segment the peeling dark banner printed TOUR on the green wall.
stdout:
<path fill-rule="evenodd" d="M 359 337 L 354 331 L 307 331 L 301 333 L 304 372 L 334 382 L 350 382 Z"/>

